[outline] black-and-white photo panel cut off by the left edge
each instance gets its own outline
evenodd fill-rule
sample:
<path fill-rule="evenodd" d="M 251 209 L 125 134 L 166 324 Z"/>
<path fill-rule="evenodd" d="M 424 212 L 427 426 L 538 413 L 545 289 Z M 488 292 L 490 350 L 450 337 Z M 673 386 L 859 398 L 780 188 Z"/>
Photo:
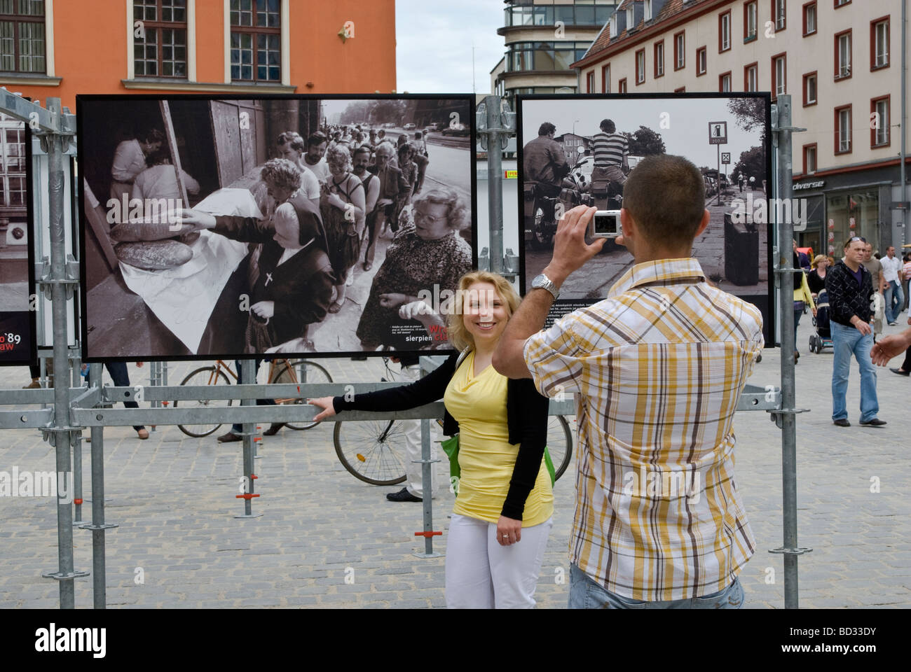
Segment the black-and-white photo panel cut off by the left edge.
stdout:
<path fill-rule="evenodd" d="M 35 361 L 30 141 L 25 123 L 0 114 L 0 365 Z"/>

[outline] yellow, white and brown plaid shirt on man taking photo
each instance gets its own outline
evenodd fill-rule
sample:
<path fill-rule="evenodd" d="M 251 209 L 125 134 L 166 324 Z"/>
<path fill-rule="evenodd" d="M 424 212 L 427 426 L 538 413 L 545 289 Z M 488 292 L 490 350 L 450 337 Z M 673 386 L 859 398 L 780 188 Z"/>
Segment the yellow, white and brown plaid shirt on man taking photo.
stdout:
<path fill-rule="evenodd" d="M 576 392 L 570 559 L 610 592 L 709 595 L 752 555 L 732 423 L 762 348 L 760 311 L 695 259 L 637 264 L 607 300 L 526 341 L 538 389 Z"/>

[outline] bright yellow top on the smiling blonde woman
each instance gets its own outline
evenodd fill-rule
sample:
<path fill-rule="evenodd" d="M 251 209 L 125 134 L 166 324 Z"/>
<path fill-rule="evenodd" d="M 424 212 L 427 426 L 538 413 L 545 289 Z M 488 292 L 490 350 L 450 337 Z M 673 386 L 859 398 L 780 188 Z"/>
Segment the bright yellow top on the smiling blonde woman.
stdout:
<path fill-rule="evenodd" d="M 507 378 L 493 366 L 475 375 L 475 353 L 462 362 L 443 398 L 459 423 L 458 463 L 462 470 L 453 513 L 496 523 L 509 492 L 518 444 L 509 443 Z M 522 526 L 544 523 L 554 513 L 550 474 L 541 458 L 528 494 Z"/>

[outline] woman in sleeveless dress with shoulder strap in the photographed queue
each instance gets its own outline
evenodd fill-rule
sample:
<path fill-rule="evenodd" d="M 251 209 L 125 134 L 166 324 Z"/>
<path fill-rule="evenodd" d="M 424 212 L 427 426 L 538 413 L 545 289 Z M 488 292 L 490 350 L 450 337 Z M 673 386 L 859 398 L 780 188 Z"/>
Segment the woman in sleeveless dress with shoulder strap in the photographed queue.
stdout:
<path fill-rule="evenodd" d="M 330 178 L 320 199 L 322 221 L 329 239 L 329 260 L 335 273 L 335 300 L 329 312 L 342 310 L 345 281 L 361 255 L 366 198 L 361 179 L 352 173 L 351 154 L 343 145 L 326 152 Z"/>

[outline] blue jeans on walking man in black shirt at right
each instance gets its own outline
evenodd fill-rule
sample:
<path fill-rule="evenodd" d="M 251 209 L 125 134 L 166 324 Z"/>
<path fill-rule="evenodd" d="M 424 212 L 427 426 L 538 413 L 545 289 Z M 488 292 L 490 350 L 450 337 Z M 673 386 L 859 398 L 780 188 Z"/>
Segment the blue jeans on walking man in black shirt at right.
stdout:
<path fill-rule="evenodd" d="M 851 372 L 851 355 L 860 365 L 860 422 L 866 423 L 876 417 L 879 402 L 876 400 L 876 367 L 870 359 L 873 348 L 873 332 L 866 336 L 854 327 L 831 322 L 834 361 L 832 367 L 832 419 L 847 418 L 844 392 L 848 389 L 848 374 Z"/>

